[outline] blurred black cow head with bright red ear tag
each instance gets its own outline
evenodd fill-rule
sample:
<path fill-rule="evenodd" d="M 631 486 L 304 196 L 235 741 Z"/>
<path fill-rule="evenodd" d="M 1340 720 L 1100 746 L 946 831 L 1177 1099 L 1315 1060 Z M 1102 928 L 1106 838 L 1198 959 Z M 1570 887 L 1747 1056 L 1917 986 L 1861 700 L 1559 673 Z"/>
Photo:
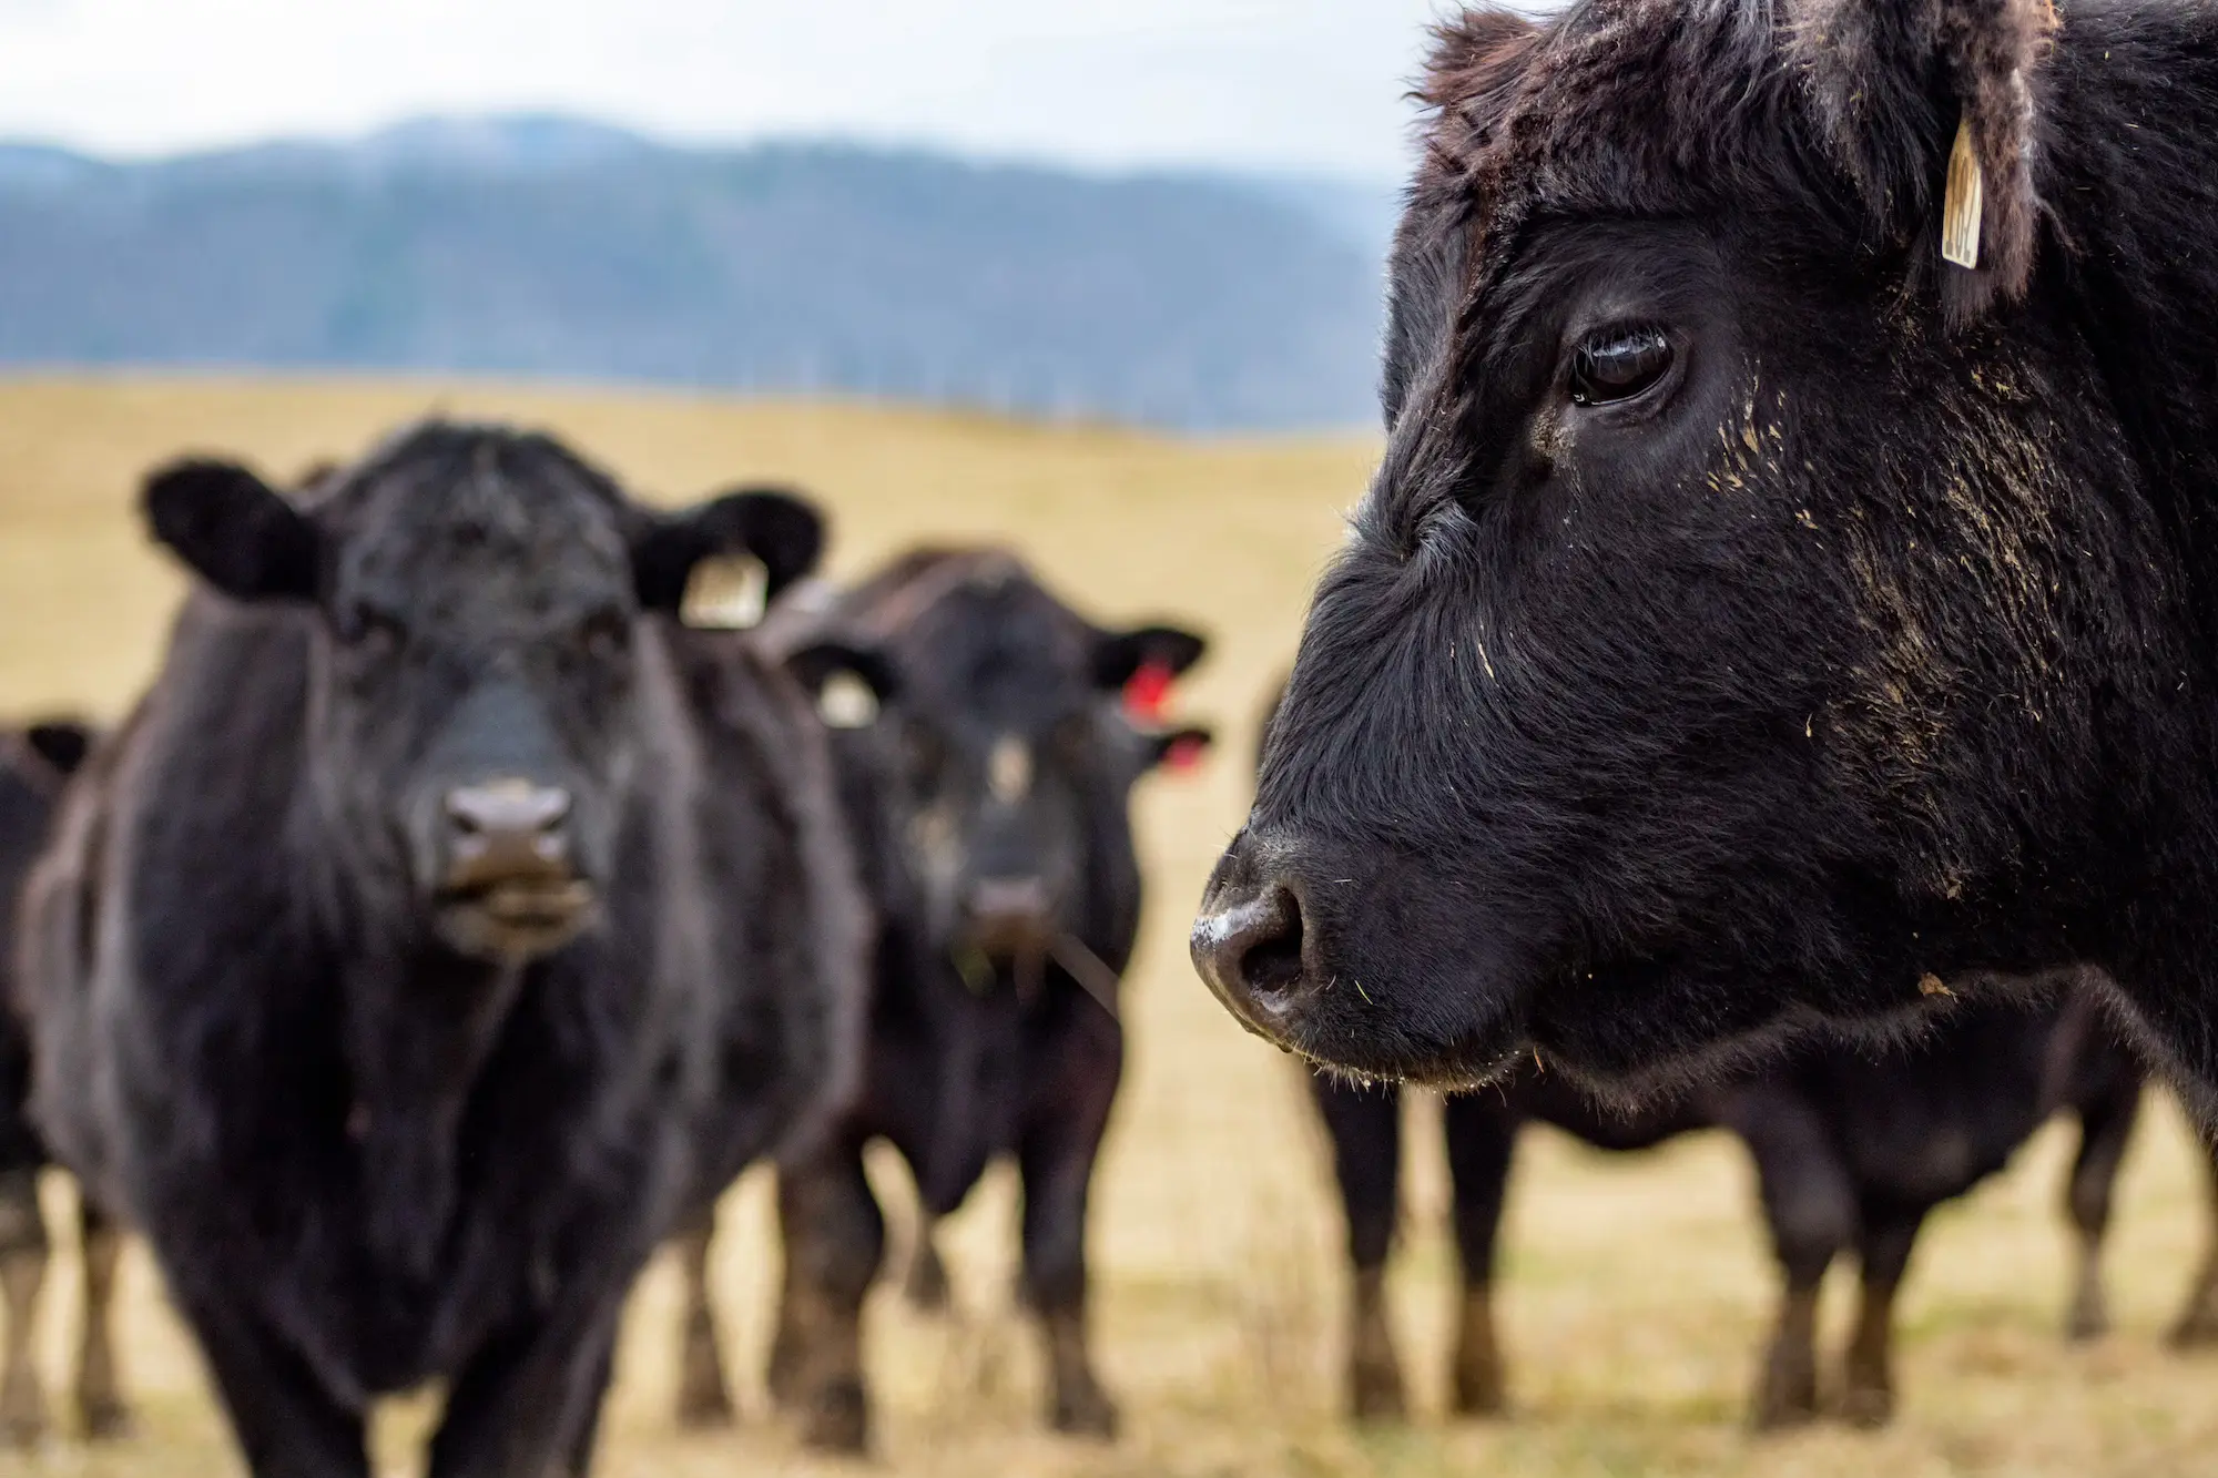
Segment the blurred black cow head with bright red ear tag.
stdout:
<path fill-rule="evenodd" d="M 958 579 L 947 579 L 956 575 Z M 874 743 L 923 928 L 958 963 L 1036 965 L 1087 932 L 1105 857 L 1131 865 L 1127 792 L 1207 730 L 1156 732 L 1162 688 L 1207 641 L 1169 626 L 1100 630 L 1000 553 L 952 555 L 901 630 L 816 648 L 803 677 L 845 666 L 881 692 Z"/>

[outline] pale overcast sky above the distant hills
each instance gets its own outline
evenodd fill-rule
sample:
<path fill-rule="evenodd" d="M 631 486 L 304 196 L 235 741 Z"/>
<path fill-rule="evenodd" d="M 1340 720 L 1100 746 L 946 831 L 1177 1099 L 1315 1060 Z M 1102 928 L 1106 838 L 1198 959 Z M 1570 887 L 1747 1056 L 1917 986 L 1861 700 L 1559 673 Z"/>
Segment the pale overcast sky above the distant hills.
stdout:
<path fill-rule="evenodd" d="M 0 138 L 171 153 L 557 109 L 1089 166 L 1402 169 L 1451 0 L 0 0 Z"/>

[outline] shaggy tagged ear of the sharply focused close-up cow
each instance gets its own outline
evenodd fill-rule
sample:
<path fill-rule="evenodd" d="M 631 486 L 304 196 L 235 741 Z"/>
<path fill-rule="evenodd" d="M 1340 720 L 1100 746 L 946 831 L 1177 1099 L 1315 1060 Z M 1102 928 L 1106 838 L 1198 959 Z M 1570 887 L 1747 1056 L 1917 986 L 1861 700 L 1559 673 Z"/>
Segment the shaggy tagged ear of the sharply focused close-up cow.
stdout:
<path fill-rule="evenodd" d="M 1788 51 L 1819 135 L 1881 226 L 1932 251 L 1952 324 L 2032 284 L 2043 60 L 2054 33 L 2052 0 L 1794 0 L 1790 9 Z M 1958 129 L 1967 158 L 1956 158 Z M 1943 222 L 1950 206 L 1956 220 Z M 1945 231 L 1958 244 L 1974 233 L 1976 251 L 1943 262 Z"/>

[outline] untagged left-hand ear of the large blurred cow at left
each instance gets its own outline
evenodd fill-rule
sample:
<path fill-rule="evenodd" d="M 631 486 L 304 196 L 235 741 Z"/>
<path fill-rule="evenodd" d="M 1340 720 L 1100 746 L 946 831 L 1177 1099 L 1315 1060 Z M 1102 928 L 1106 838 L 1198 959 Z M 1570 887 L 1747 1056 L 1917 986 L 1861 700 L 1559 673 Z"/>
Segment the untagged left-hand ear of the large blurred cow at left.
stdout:
<path fill-rule="evenodd" d="M 173 462 L 140 495 L 146 526 L 235 601 L 313 601 L 322 535 L 282 493 L 231 462 Z"/>

